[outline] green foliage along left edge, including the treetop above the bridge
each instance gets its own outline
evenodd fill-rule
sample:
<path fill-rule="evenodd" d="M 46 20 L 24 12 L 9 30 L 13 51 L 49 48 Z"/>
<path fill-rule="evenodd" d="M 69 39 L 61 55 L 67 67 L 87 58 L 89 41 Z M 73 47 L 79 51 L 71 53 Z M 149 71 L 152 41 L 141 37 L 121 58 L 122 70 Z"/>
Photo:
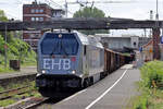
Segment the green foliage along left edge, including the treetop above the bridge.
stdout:
<path fill-rule="evenodd" d="M 8 22 L 8 17 L 5 16 L 4 12 L 0 10 L 0 21 Z M 7 44 L 4 41 L 7 35 Z M 36 64 L 36 53 L 30 49 L 30 46 L 25 41 L 15 38 L 17 35 L 21 36 L 18 32 L 0 32 L 0 72 L 8 72 L 11 71 L 8 68 L 3 68 L 4 64 L 4 45 L 7 45 L 7 56 L 8 56 L 8 63 L 10 60 L 21 60 L 21 63 L 27 64 Z"/>

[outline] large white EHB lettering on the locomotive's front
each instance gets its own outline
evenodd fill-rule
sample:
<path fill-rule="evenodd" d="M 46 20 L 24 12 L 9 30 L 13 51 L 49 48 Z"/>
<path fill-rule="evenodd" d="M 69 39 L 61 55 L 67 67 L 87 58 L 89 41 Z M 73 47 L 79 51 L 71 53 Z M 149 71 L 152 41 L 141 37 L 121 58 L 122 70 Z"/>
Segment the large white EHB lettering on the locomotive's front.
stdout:
<path fill-rule="evenodd" d="M 43 69 L 46 70 L 70 70 L 70 59 L 43 59 Z"/>

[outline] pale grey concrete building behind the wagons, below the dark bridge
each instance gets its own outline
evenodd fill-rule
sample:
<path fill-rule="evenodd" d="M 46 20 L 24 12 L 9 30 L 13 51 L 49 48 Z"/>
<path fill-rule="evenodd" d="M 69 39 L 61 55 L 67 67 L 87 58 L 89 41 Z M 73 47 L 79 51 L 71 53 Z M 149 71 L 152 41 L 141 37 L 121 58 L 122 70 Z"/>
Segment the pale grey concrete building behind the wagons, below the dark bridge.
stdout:
<path fill-rule="evenodd" d="M 148 41 L 151 38 L 147 37 L 139 37 L 139 36 L 124 36 L 123 37 L 114 37 L 109 35 L 100 35 L 97 34 L 97 37 L 101 37 L 101 43 L 109 49 L 115 50 L 115 51 L 125 51 L 126 48 L 129 49 L 139 49 L 145 44 L 148 44 Z"/>

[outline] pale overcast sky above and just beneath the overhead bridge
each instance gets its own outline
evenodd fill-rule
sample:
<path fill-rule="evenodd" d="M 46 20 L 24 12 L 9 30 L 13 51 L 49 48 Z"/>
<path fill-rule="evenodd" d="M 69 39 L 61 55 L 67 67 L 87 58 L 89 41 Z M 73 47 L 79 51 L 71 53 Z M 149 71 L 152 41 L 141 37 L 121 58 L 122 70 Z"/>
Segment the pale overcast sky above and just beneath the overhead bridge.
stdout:
<path fill-rule="evenodd" d="M 4 10 L 8 17 L 15 20 L 22 20 L 22 8 L 24 3 L 32 3 L 34 0 L 0 0 L 0 9 Z M 46 2 L 52 8 L 64 8 L 65 0 L 37 0 L 38 2 Z M 76 0 L 67 0 L 67 2 L 75 2 Z M 102 10 L 105 16 L 112 17 L 125 17 L 134 20 L 150 20 L 150 10 L 153 11 L 153 20 L 155 20 L 156 13 L 156 0 L 79 0 L 79 1 L 122 1 L 122 3 L 95 3 L 95 7 Z M 159 4 L 159 19 L 163 20 L 163 0 L 158 0 Z M 90 5 L 90 4 L 88 4 Z M 77 10 L 78 4 L 68 4 L 68 17 L 73 16 Z M 115 33 L 120 34 L 133 34 L 143 35 L 145 31 L 112 31 L 111 35 Z"/>

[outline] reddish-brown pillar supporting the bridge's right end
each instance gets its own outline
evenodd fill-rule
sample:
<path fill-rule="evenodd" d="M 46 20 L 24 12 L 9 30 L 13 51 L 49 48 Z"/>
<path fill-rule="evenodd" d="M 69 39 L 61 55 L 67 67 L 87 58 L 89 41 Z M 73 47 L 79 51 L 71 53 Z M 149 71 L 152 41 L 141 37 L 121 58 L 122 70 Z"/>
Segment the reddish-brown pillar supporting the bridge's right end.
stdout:
<path fill-rule="evenodd" d="M 160 60 L 160 28 L 152 28 L 153 59 Z"/>

